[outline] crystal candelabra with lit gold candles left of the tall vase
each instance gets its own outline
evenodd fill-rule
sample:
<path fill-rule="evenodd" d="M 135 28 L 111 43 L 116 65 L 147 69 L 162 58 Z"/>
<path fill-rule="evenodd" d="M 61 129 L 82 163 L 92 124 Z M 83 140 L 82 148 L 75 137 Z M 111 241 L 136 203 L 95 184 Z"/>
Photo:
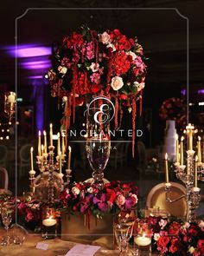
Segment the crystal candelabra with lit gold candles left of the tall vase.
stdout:
<path fill-rule="evenodd" d="M 43 131 L 43 144 L 41 144 L 41 131 L 38 132 L 38 154 L 36 155 L 36 163 L 41 172 L 40 181 L 35 182 L 35 170 L 33 167 L 33 148 L 30 148 L 31 170 L 30 174 L 30 188 L 31 193 L 35 195 L 36 187 L 48 187 L 48 202 L 54 202 L 54 188 L 61 192 L 64 186 L 69 183 L 71 178 L 71 147 L 69 147 L 66 177 L 67 182 L 63 181 L 62 167 L 66 162 L 66 145 L 65 135 L 63 133 L 57 134 L 57 154 L 54 156 L 53 145 L 53 125 L 49 126 L 49 146 L 47 145 L 47 132 Z M 48 175 L 48 178 L 46 176 Z"/>

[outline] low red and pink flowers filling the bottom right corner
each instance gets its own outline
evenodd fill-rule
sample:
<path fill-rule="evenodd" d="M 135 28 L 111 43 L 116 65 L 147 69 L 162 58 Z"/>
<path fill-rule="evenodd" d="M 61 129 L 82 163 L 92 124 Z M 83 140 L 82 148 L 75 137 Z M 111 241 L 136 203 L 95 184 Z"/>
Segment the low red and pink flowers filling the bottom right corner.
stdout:
<path fill-rule="evenodd" d="M 184 224 L 160 217 L 149 217 L 152 227 L 152 250 L 163 255 L 203 256 L 204 221 Z"/>

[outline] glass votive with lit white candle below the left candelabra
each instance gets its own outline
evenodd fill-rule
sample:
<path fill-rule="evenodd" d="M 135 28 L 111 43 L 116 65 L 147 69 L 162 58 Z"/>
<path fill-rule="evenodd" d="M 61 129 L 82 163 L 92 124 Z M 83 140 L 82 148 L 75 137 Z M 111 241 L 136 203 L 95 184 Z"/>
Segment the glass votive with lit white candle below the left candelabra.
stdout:
<path fill-rule="evenodd" d="M 45 207 L 42 209 L 41 237 L 46 240 L 52 240 L 57 236 L 57 220 L 55 209 Z"/>

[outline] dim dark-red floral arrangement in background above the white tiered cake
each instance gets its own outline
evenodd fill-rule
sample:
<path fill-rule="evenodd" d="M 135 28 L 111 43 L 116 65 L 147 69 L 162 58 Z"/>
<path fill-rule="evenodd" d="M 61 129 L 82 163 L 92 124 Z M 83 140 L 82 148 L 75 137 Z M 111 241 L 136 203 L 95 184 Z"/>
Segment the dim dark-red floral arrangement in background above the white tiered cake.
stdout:
<path fill-rule="evenodd" d="M 186 105 L 180 98 L 169 98 L 159 108 L 159 115 L 162 120 L 175 120 L 178 127 L 185 126 Z"/>

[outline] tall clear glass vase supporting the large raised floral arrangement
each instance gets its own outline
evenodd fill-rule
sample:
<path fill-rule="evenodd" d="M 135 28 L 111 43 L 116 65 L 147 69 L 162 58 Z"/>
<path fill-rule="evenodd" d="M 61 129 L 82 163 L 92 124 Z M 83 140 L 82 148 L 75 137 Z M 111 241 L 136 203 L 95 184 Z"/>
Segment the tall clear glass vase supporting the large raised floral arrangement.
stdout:
<path fill-rule="evenodd" d="M 105 96 L 97 96 L 86 108 L 86 154 L 93 173 L 94 184 L 104 185 L 104 169 L 111 149 L 110 121 L 112 102 Z"/>

